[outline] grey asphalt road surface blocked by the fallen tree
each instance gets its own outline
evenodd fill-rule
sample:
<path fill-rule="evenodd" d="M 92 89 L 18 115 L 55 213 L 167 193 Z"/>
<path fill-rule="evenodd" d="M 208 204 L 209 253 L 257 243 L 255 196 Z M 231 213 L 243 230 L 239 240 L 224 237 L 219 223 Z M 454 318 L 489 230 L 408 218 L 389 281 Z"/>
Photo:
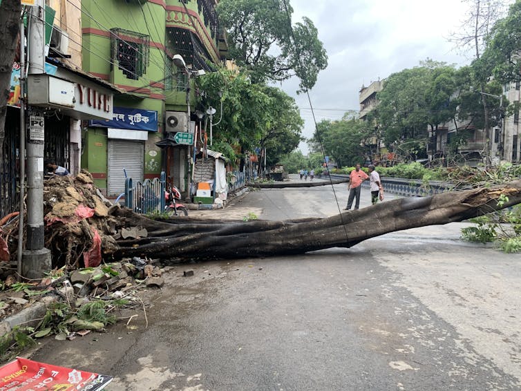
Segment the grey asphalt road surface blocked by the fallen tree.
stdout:
<path fill-rule="evenodd" d="M 347 196 L 345 184 L 262 190 L 200 213 L 323 217 Z M 520 390 L 521 257 L 463 242 L 465 225 L 168 267 L 146 321 L 135 311 L 128 326 L 48 340 L 33 358 L 116 376 L 113 391 Z"/>

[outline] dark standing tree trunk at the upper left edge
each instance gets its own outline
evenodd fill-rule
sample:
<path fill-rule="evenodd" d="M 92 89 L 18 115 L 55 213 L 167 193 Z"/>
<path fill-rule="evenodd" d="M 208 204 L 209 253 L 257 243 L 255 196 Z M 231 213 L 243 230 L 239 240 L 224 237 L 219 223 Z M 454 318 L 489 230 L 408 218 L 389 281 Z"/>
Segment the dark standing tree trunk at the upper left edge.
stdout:
<path fill-rule="evenodd" d="M 2 0 L 0 3 L 0 162 L 3 162 L 7 99 L 11 87 L 12 63 L 15 61 L 21 15 L 20 0 Z M 0 166 L 0 173 L 3 171 Z"/>

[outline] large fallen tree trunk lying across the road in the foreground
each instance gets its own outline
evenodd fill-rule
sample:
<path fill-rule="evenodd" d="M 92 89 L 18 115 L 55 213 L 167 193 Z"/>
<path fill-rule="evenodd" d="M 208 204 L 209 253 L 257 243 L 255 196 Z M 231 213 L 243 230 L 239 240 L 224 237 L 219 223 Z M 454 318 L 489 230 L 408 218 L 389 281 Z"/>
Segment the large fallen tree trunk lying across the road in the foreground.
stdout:
<path fill-rule="evenodd" d="M 500 202 L 500 196 L 508 197 Z M 115 211 L 124 227 L 142 226 L 147 238 L 118 240 L 116 258 L 227 259 L 303 254 L 352 247 L 393 231 L 443 225 L 481 216 L 521 202 L 521 180 L 500 187 L 401 198 L 330 218 L 249 222 L 208 222 L 190 218 L 158 222 L 128 209 Z"/>

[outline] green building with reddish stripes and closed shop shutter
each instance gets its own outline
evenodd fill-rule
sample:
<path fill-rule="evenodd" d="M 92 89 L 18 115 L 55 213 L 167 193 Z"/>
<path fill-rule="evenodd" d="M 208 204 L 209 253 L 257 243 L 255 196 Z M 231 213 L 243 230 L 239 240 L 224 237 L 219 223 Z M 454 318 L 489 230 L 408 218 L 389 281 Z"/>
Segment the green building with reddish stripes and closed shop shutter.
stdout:
<path fill-rule="evenodd" d="M 121 91 L 113 120 L 83 128 L 82 168 L 108 196 L 124 191 L 125 175 L 144 180 L 162 170 L 189 196 L 198 124 L 189 85 L 196 70 L 209 71 L 207 61 L 218 64 L 226 53 L 215 8 L 215 0 L 82 1 L 82 68 Z M 176 55 L 186 68 L 176 67 Z"/>

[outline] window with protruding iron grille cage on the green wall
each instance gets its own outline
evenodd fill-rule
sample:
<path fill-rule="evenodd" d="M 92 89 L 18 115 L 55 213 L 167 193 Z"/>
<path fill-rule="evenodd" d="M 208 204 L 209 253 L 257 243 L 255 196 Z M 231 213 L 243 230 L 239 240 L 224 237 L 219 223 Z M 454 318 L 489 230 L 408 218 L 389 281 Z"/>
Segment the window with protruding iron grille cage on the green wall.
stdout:
<path fill-rule="evenodd" d="M 112 66 L 129 79 L 139 79 L 149 65 L 150 37 L 121 28 L 111 29 L 111 33 Z"/>

